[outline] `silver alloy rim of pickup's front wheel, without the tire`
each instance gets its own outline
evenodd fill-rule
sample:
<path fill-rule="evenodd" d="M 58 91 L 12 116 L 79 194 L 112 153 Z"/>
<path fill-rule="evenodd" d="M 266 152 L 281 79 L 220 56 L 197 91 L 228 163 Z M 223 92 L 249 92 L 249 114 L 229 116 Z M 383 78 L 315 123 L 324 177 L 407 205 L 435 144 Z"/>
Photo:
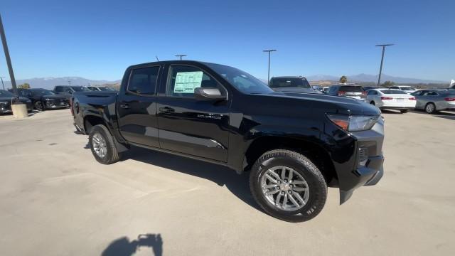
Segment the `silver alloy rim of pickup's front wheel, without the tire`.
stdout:
<path fill-rule="evenodd" d="M 308 183 L 287 166 L 268 169 L 261 178 L 262 195 L 281 210 L 299 210 L 308 203 Z"/>

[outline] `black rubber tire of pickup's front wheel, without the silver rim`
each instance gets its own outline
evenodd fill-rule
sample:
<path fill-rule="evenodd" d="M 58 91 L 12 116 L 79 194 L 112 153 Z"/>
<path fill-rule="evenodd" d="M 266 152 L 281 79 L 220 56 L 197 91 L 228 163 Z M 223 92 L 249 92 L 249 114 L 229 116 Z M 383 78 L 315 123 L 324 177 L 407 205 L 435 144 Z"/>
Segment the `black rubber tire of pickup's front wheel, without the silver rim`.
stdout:
<path fill-rule="evenodd" d="M 309 198 L 303 208 L 294 211 L 283 210 L 265 198 L 261 186 L 262 176 L 267 170 L 276 166 L 294 169 L 308 183 Z M 294 223 L 316 217 L 321 212 L 327 198 L 327 183 L 316 165 L 304 155 L 285 149 L 267 151 L 257 159 L 250 173 L 250 190 L 255 201 L 266 213 Z"/>

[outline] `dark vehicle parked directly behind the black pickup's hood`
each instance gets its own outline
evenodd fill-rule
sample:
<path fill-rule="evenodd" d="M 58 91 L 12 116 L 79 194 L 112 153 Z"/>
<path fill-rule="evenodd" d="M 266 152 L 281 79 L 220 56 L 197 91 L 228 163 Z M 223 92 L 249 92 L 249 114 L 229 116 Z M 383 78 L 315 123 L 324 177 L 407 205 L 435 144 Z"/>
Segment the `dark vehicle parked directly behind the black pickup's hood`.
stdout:
<path fill-rule="evenodd" d="M 306 78 L 299 76 L 273 77 L 270 78 L 269 87 L 276 92 L 314 92 Z"/>

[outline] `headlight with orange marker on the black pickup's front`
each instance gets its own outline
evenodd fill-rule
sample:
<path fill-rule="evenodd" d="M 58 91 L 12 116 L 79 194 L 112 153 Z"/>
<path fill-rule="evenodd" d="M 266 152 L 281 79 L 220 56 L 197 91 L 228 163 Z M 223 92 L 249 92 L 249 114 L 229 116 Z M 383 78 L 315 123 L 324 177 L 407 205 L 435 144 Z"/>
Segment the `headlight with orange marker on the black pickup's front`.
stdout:
<path fill-rule="evenodd" d="M 327 114 L 328 119 L 341 129 L 348 132 L 358 132 L 371 129 L 380 115 L 375 116 L 349 116 L 341 114 Z"/>

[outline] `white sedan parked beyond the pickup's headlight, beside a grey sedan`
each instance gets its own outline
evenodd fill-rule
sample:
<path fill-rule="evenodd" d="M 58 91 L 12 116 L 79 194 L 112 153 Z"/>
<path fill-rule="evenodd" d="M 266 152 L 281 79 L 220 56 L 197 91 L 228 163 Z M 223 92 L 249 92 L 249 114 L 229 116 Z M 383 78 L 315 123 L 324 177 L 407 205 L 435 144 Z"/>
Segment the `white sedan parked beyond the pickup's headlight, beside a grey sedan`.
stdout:
<path fill-rule="evenodd" d="M 402 90 L 389 88 L 368 90 L 367 102 L 380 109 L 400 110 L 402 113 L 414 110 L 416 104 L 414 96 Z"/>

